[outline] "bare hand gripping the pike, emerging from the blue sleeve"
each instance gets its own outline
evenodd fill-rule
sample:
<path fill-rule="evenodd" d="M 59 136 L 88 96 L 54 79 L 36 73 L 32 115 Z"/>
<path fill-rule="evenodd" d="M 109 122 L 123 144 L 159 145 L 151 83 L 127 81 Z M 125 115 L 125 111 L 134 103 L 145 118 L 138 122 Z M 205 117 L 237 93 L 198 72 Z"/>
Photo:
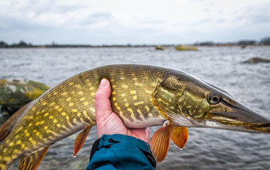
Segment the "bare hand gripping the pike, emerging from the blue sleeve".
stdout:
<path fill-rule="evenodd" d="M 121 134 L 136 137 L 150 143 L 150 130 L 149 128 L 142 129 L 129 129 L 126 128 L 122 120 L 111 109 L 111 96 L 110 81 L 102 79 L 98 91 L 95 95 L 95 110 L 96 110 L 96 126 L 98 135 L 101 137 L 105 135 Z"/>

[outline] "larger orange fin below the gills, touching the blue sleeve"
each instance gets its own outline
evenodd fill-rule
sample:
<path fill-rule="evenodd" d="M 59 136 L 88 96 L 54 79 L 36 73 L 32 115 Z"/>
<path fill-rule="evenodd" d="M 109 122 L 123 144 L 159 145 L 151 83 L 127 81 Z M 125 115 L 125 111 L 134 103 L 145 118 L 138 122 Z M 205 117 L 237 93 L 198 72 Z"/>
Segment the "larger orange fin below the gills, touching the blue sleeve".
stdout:
<path fill-rule="evenodd" d="M 150 146 L 157 162 L 162 162 L 169 151 L 172 128 L 173 125 L 166 124 L 154 132 Z"/>

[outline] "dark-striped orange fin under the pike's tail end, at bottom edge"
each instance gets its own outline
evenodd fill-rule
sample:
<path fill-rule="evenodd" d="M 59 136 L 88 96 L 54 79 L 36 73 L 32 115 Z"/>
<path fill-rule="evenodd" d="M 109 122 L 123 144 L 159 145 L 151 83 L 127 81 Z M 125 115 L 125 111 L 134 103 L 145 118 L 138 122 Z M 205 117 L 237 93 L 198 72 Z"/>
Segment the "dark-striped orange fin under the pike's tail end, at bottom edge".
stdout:
<path fill-rule="evenodd" d="M 35 170 L 45 156 L 50 145 L 33 154 L 24 155 L 18 166 L 18 170 Z"/>

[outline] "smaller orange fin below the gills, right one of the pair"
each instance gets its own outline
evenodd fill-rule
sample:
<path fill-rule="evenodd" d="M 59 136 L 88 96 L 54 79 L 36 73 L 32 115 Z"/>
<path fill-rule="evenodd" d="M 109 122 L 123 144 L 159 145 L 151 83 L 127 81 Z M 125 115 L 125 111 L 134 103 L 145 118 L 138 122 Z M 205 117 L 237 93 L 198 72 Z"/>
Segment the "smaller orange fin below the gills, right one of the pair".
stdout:
<path fill-rule="evenodd" d="M 183 149 L 188 140 L 189 132 L 186 127 L 174 127 L 171 132 L 171 140 L 179 149 Z"/>

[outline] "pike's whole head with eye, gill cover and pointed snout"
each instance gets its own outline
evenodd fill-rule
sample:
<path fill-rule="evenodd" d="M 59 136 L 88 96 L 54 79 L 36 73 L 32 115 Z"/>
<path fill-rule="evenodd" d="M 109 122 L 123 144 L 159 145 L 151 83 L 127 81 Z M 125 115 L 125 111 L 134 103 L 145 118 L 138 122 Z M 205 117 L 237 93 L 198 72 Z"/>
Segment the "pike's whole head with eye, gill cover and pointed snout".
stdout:
<path fill-rule="evenodd" d="M 185 72 L 164 79 L 153 94 L 156 106 L 175 126 L 270 132 L 270 120 L 226 91 Z"/>

